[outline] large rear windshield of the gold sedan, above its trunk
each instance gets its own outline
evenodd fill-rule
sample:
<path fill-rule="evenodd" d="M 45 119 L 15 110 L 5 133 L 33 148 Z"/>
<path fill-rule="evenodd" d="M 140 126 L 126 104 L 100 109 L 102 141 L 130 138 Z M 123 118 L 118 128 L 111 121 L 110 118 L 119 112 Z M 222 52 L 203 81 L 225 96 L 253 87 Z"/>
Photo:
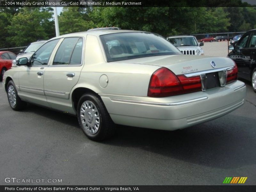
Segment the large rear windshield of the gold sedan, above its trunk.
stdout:
<path fill-rule="evenodd" d="M 108 62 L 158 55 L 182 54 L 166 39 L 153 33 L 113 33 L 101 35 L 100 40 Z"/>

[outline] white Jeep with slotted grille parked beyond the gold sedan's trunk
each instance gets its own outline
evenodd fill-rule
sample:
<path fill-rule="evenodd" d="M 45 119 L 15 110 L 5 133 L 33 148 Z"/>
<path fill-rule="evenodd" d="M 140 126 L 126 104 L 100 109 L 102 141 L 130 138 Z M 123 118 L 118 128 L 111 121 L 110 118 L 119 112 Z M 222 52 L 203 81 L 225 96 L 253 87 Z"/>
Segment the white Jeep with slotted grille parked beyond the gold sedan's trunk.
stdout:
<path fill-rule="evenodd" d="M 198 43 L 195 36 L 169 36 L 167 40 L 177 47 L 184 55 L 204 55 L 203 42 Z"/>

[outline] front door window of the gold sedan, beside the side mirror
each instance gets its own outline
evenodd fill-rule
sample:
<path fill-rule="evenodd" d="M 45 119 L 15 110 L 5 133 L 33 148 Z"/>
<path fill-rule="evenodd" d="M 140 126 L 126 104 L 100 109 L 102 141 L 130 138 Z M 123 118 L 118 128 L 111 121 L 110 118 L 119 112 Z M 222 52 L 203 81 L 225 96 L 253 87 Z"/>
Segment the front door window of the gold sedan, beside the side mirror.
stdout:
<path fill-rule="evenodd" d="M 47 42 L 40 47 L 32 56 L 31 65 L 47 65 L 52 51 L 60 39 Z"/>

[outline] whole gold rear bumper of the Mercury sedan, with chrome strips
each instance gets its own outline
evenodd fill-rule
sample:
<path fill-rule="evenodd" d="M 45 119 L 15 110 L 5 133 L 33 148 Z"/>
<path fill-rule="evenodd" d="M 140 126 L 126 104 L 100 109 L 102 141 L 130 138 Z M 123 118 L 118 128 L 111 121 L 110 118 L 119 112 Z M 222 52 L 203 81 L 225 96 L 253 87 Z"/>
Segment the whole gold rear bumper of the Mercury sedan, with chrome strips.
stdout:
<path fill-rule="evenodd" d="M 228 114 L 243 105 L 245 95 L 245 84 L 236 81 L 205 92 L 165 98 L 100 96 L 116 124 L 176 130 Z"/>

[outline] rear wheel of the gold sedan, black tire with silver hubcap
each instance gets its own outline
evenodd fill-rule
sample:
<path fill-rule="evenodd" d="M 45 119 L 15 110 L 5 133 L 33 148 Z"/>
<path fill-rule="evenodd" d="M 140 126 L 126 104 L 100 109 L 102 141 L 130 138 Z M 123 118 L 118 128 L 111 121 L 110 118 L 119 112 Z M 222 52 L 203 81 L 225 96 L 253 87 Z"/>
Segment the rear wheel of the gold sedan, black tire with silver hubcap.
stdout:
<path fill-rule="evenodd" d="M 115 133 L 114 122 L 102 100 L 95 94 L 84 94 L 79 99 L 77 118 L 84 134 L 91 140 L 105 140 Z"/>

